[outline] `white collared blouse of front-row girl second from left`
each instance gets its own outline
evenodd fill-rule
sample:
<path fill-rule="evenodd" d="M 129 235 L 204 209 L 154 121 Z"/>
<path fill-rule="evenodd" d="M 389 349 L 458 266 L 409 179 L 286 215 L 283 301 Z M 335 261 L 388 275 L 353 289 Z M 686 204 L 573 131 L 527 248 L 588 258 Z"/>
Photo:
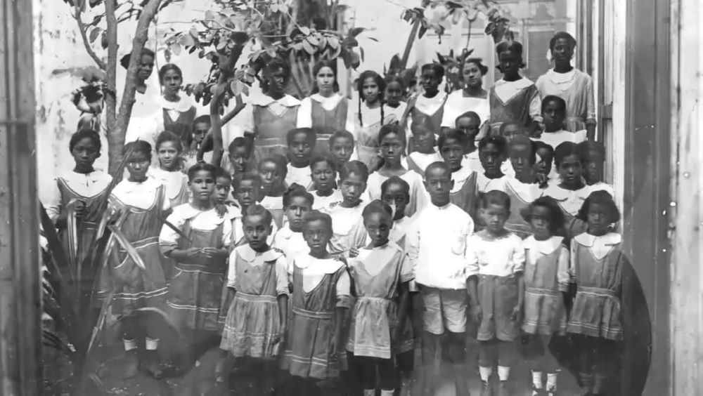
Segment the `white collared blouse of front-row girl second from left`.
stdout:
<path fill-rule="evenodd" d="M 302 254 L 292 260 L 292 265 L 288 268 L 288 275 L 292 277 L 294 266 L 302 270 L 303 275 L 303 291 L 309 293 L 322 282 L 325 275 L 334 274 L 342 268 L 344 262 L 335 260 L 334 258 L 314 258 L 309 254 Z M 292 281 L 291 281 L 292 283 Z M 342 272 L 340 278 L 337 279 L 337 301 L 340 297 L 349 297 L 352 294 L 352 284 L 349 282 L 349 274 L 347 271 Z M 295 290 L 293 291 L 295 293 Z"/>

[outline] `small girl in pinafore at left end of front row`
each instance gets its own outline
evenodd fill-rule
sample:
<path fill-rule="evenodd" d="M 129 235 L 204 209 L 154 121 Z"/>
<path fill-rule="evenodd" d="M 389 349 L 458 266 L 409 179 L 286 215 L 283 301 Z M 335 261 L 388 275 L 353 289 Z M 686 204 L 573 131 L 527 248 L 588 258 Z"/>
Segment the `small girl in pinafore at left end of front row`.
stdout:
<path fill-rule="evenodd" d="M 222 382 L 227 352 L 235 359 L 251 357 L 259 395 L 273 390 L 276 359 L 288 326 L 288 264 L 283 253 L 266 242 L 271 221 L 271 213 L 261 205 L 249 206 L 244 213 L 247 244 L 229 256 L 228 312 L 216 368 Z"/>

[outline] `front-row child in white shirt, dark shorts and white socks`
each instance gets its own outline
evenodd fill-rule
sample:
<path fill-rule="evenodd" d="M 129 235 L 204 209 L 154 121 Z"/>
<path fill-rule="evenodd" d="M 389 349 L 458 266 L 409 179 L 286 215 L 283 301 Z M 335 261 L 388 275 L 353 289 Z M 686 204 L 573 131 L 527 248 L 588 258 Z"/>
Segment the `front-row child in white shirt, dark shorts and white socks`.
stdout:
<path fill-rule="evenodd" d="M 484 391 L 498 364 L 501 395 L 509 395 L 510 367 L 517 358 L 517 326 L 521 322 L 524 296 L 524 249 L 522 239 L 505 230 L 510 198 L 502 191 L 481 197 L 486 228 L 467 240 L 470 311 L 479 329 L 479 374 Z"/>

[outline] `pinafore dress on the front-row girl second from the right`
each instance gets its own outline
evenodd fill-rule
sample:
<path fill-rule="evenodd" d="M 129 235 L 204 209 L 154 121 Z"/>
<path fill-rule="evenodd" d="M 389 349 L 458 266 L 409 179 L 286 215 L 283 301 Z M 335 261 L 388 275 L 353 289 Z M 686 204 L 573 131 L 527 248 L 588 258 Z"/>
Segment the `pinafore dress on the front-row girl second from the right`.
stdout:
<path fill-rule="evenodd" d="M 565 334 L 567 312 L 557 279 L 559 260 L 564 249 L 560 245 L 551 253 L 537 252 L 536 262 L 531 260 L 529 248 L 526 251 L 522 330 L 527 334 Z"/>

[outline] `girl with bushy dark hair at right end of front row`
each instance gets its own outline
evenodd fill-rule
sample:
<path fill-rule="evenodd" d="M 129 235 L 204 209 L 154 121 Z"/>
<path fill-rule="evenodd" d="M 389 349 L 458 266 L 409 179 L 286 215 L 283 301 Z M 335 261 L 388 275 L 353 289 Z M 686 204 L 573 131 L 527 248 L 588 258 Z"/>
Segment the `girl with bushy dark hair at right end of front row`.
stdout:
<path fill-rule="evenodd" d="M 621 235 L 608 230 L 620 220 L 610 194 L 591 193 L 576 217 L 588 229 L 571 242 L 576 297 L 567 332 L 579 343 L 582 394 L 606 395 L 610 392 L 605 391 L 605 383 L 617 367 L 624 339 L 623 283 L 633 276 L 633 270 L 624 256 Z"/>

